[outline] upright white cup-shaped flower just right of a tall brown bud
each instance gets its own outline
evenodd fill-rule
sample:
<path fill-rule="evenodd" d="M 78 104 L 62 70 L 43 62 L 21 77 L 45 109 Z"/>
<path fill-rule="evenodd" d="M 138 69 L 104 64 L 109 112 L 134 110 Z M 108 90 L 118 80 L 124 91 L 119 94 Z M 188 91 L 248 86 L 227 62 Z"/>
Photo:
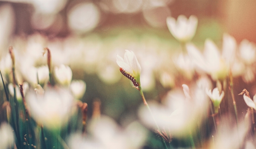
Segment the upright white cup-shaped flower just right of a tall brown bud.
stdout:
<path fill-rule="evenodd" d="M 69 66 L 61 65 L 54 68 L 55 78 L 59 84 L 68 86 L 72 80 L 72 71 Z"/>

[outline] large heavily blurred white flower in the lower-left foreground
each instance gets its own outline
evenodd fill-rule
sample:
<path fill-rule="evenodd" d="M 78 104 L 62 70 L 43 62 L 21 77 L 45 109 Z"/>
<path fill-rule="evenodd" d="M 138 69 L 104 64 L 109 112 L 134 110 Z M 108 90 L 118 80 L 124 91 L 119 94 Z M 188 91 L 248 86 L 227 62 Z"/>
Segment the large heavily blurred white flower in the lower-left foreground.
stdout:
<path fill-rule="evenodd" d="M 26 100 L 31 116 L 39 124 L 51 129 L 58 129 L 67 122 L 74 105 L 74 99 L 66 89 L 47 89 L 43 96 L 30 91 Z"/>

